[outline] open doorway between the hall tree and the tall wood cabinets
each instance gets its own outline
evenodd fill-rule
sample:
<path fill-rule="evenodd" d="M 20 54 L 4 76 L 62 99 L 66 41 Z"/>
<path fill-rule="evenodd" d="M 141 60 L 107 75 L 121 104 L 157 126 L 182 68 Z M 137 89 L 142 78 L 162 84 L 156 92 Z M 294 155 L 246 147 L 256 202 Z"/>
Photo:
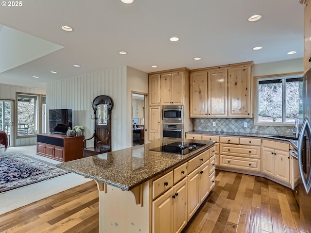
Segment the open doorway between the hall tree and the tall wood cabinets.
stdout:
<path fill-rule="evenodd" d="M 145 143 L 145 95 L 132 92 L 132 146 Z"/>

